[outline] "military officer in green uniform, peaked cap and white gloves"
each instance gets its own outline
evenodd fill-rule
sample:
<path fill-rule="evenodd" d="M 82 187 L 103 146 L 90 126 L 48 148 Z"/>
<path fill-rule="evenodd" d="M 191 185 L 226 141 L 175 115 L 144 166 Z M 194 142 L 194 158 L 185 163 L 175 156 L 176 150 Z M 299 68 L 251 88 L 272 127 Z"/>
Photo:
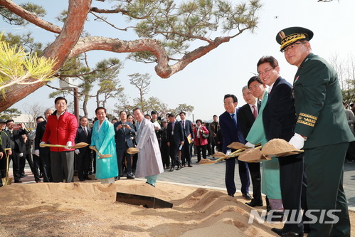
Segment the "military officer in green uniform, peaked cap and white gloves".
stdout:
<path fill-rule="evenodd" d="M 285 28 L 276 36 L 287 62 L 298 67 L 293 83 L 297 125 L 290 144 L 304 149 L 307 206 L 317 216 L 316 223 L 309 225 L 308 237 L 350 236 L 343 164 L 349 142 L 355 138 L 341 104 L 337 73 L 312 53 L 312 37 L 313 32 L 302 27 Z M 273 231 L 290 236 L 283 229 Z"/>

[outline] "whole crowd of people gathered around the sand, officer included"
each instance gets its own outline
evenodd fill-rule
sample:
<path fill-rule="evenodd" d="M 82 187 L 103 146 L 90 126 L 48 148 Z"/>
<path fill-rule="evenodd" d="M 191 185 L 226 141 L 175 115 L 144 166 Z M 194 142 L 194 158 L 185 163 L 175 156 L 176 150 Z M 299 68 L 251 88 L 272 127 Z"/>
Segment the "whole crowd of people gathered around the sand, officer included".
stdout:
<path fill-rule="evenodd" d="M 38 117 L 33 137 L 14 120 L 0 120 L 0 157 L 4 157 L 4 147 L 11 147 L 15 182 L 21 182 L 27 159 L 38 182 L 41 176 L 45 182 L 72 182 L 76 169 L 80 181 L 91 179 L 89 174 L 95 173 L 102 183 L 112 183 L 126 174 L 127 179 L 145 177 L 147 184 L 155 186 L 164 169 L 173 172 L 193 167 L 195 153 L 200 162 L 216 151 L 235 152 L 228 148 L 232 142 L 253 148 L 271 139 L 285 139 L 304 152 L 272 157 L 262 164 L 242 162 L 238 157 L 226 159 L 228 195 L 233 197 L 236 191 L 238 162 L 240 190 L 249 200 L 245 204 L 263 206 L 265 194 L 270 214 L 265 218 L 285 221 L 282 228 L 272 228 L 279 236 L 350 236 L 342 176 L 345 157 L 348 162 L 355 157 L 355 117 L 342 102 L 337 73 L 326 60 L 312 53 L 312 37 L 313 32 L 302 27 L 277 33 L 280 51 L 288 63 L 298 68 L 293 85 L 281 77 L 275 57 L 263 56 L 256 63 L 258 75 L 242 88 L 246 104 L 238 107 L 238 98 L 226 94 L 226 112 L 219 116 L 219 122 L 217 115 L 206 124 L 199 119 L 186 120 L 184 111 L 179 113 L 178 121 L 173 113 L 159 116 L 152 111 L 144 115 L 139 108 L 133 115 L 121 111 L 119 119 L 109 122 L 105 108 L 98 107 L 93 127 L 86 117 L 80 118 L 78 127 L 75 116 L 66 110 L 65 98 L 56 98 L 55 110 L 48 109 L 45 118 Z M 33 162 L 28 159 L 31 139 Z M 87 142 L 94 149 L 75 149 L 73 144 L 79 142 Z M 44 147 L 48 143 L 63 146 L 48 149 Z M 137 154 L 128 152 L 132 147 Z M 110 156 L 103 157 L 105 154 Z M 249 194 L 250 181 L 253 196 Z M 313 211 L 315 221 L 309 222 L 307 210 Z M 332 222 L 332 216 L 324 216 L 323 210 L 338 210 L 334 215 L 339 220 Z"/>

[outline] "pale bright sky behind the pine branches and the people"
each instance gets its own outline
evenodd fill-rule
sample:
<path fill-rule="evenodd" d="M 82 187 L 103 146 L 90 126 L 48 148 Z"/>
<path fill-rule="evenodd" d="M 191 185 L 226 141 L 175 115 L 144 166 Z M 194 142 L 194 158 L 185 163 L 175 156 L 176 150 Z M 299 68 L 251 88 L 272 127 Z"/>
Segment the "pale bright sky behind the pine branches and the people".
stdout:
<path fill-rule="evenodd" d="M 27 1 L 15 1 L 17 4 Z M 45 6 L 48 15 L 44 18 L 56 25 L 61 24 L 55 20 L 60 11 L 68 8 L 68 1 L 36 0 L 36 4 Z M 110 4 L 92 1 L 92 6 L 108 8 Z M 233 1 L 238 2 L 238 1 Z M 171 78 L 161 79 L 154 72 L 154 64 L 135 63 L 126 60 L 124 69 L 119 78 L 125 93 L 131 98 L 138 97 L 138 90 L 129 84 L 128 76 L 132 73 L 149 73 L 152 75 L 152 83 L 148 97 L 154 96 L 174 108 L 180 103 L 194 105 L 194 117 L 187 115 L 192 120 L 211 120 L 213 115 L 221 115 L 223 109 L 223 95 L 233 93 L 238 97 L 238 106 L 245 104 L 241 89 L 248 79 L 257 73 L 256 63 L 259 58 L 271 55 L 280 63 L 280 75 L 292 83 L 297 68 L 289 65 L 283 54 L 279 51 L 279 45 L 275 36 L 282 28 L 290 26 L 302 26 L 314 32 L 311 46 L 313 53 L 329 60 L 335 54 L 339 58 L 355 57 L 355 1 L 334 0 L 330 3 L 318 3 L 317 0 L 272 0 L 261 1 L 264 5 L 259 12 L 260 23 L 254 33 L 244 32 L 233 38 L 229 43 L 224 43 L 206 56 L 195 60 L 184 70 Z M 103 23 L 90 21 L 85 25 L 92 36 L 106 36 L 132 39 L 132 33 L 116 31 Z M 117 16 L 115 24 L 120 27 Z M 12 33 L 25 33 L 32 31 L 36 41 L 48 43 L 53 41 L 55 35 L 41 28 L 29 24 L 26 28 L 9 26 L 0 22 L 0 28 Z M 88 54 L 92 66 L 98 60 L 117 57 L 124 60 L 123 54 L 106 51 L 93 51 Z M 57 85 L 53 83 L 53 85 Z M 46 87 L 36 90 L 27 98 L 17 102 L 14 107 L 23 109 L 24 103 L 41 102 L 45 107 L 53 105 L 53 99 L 48 98 L 51 93 Z M 68 98 L 71 100 L 71 98 Z M 111 100 L 107 110 L 112 112 L 117 100 Z M 89 102 L 90 117 L 94 117 L 95 100 Z M 83 114 L 80 110 L 80 114 Z"/>

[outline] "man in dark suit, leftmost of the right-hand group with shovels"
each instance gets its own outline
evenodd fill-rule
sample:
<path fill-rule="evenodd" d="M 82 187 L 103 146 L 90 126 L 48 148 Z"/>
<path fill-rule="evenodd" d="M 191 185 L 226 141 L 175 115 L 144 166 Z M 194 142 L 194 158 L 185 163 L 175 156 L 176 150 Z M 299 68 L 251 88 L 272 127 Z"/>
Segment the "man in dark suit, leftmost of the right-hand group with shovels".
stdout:
<path fill-rule="evenodd" d="M 223 153 L 227 153 L 227 146 L 232 142 L 241 142 L 245 144 L 243 133 L 240 129 L 237 105 L 238 99 L 235 95 L 227 94 L 224 96 L 224 108 L 226 109 L 226 112 L 223 112 L 223 114 L 219 116 L 223 136 Z M 233 149 L 231 152 L 233 152 Z M 238 160 L 238 167 L 239 177 L 242 183 L 240 190 L 242 191 L 243 197 L 250 200 L 251 196 L 249 194 L 250 179 L 248 164 Z M 234 196 L 236 191 L 234 172 L 235 158 L 226 159 L 226 188 L 229 196 Z"/>

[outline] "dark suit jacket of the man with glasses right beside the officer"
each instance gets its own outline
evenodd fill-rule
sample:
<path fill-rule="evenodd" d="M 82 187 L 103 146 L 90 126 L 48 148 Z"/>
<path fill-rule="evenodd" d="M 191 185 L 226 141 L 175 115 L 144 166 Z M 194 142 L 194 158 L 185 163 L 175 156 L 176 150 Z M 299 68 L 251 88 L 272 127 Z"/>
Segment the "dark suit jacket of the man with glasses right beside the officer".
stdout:
<path fill-rule="evenodd" d="M 295 134 L 296 111 L 292 98 L 292 86 L 281 77 L 277 78 L 263 110 L 263 124 L 268 141 L 282 138 L 287 142 Z"/>

